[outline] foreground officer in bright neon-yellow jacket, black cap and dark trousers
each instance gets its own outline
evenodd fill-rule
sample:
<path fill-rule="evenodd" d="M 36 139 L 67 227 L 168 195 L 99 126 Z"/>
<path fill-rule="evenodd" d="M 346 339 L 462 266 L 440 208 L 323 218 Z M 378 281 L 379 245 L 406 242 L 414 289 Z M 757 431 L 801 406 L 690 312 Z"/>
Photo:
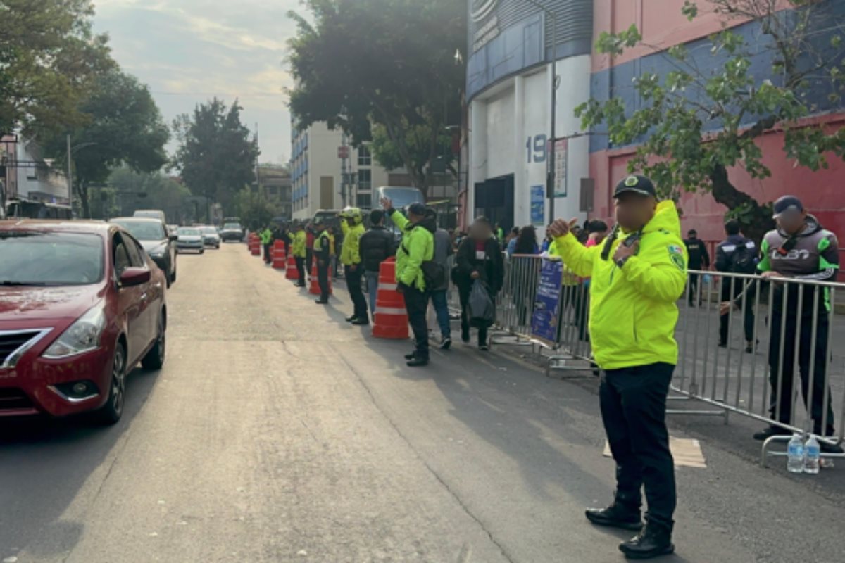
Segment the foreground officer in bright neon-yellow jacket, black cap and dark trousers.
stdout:
<path fill-rule="evenodd" d="M 590 282 L 590 338 L 602 368 L 599 398 L 616 462 L 616 498 L 586 517 L 600 526 L 641 529 L 619 546 L 632 559 L 672 553 L 675 476 L 666 428 L 666 397 L 678 344 L 678 303 L 687 252 L 678 211 L 657 203 L 645 176 L 619 182 L 617 226 L 603 245 L 586 248 L 572 235 L 576 220 L 549 227 L 564 265 Z M 641 521 L 641 488 L 648 512 Z"/>

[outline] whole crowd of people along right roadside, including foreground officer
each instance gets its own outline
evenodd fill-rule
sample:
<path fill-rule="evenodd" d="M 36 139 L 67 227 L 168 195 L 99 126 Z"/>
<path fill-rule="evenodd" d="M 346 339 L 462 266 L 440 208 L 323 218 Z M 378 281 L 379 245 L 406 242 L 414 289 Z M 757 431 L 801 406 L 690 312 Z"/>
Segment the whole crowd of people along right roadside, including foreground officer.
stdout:
<path fill-rule="evenodd" d="M 461 340 L 470 343 L 475 328 L 478 349 L 487 350 L 507 261 L 537 256 L 559 259 L 563 263 L 562 287 L 581 288 L 562 291 L 561 295 L 572 297 L 562 297 L 560 311 L 575 309 L 580 338 L 590 340 L 593 359 L 601 368 L 599 402 L 617 466 L 613 502 L 606 508 L 587 510 L 586 517 L 600 526 L 639 531 L 619 547 L 630 558 L 650 559 L 674 550 L 676 492 L 665 413 L 679 360 L 675 339 L 678 303 L 685 293 L 688 306 L 701 306 L 709 282 L 699 272 L 711 268 L 711 256 L 695 230 L 682 238 L 675 203 L 659 201 L 647 177 L 625 177 L 613 198 L 613 229 L 601 220 L 581 226 L 577 220 L 557 219 L 548 225 L 542 241 L 537 240 L 531 225 L 505 233 L 501 225 L 484 217 L 475 219 L 466 233 L 450 233 L 438 228 L 435 212 L 423 203 L 412 203 L 403 213 L 386 198 L 381 201 L 382 208 L 369 213 L 368 229 L 360 209 L 346 208 L 340 214 L 340 233 L 315 220 L 307 228 L 293 224 L 290 230 L 265 230 L 261 241 L 267 255 L 274 237 L 285 241 L 295 257 L 300 286 L 304 285 L 304 265 L 311 263 L 313 253 L 320 288 L 316 302 L 320 305 L 329 302 L 336 243 L 353 304 L 346 321 L 360 326 L 368 325 L 377 312 L 382 263 L 395 257 L 395 290 L 404 296 L 413 333 L 414 349 L 406 355 L 406 363 L 412 367 L 430 361 L 429 304 L 439 326 L 439 348 L 450 349 L 450 282 L 461 304 Z M 398 229 L 398 236 L 386 228 L 387 219 Z M 763 237 L 759 249 L 755 241 L 741 234 L 737 221 L 724 225 L 726 238 L 716 246 L 712 263 L 717 273 L 731 274 L 722 275 L 719 288 L 718 345 L 729 344 L 731 310 L 735 309 L 743 316 L 745 350 L 755 351 L 755 311 L 750 303 L 755 302 L 756 292 L 771 284 L 768 362 L 772 424 L 754 437 L 766 440 L 790 433 L 784 425 L 794 424 L 793 401 L 784 389 L 793 388 L 796 354 L 814 432 L 834 436 L 834 416 L 830 402 L 826 403 L 831 397 L 826 380 L 829 290 L 821 290 L 819 297 L 810 284 L 787 282 L 835 280 L 837 238 L 807 213 L 799 198 L 777 200 L 774 220 L 777 228 Z M 534 303 L 522 302 L 525 295 L 532 294 L 517 292 L 514 296 L 521 325 L 535 308 Z M 560 318 L 559 324 L 563 324 Z M 822 448 L 842 452 L 826 442 Z M 643 490 L 648 505 L 645 525 Z"/>

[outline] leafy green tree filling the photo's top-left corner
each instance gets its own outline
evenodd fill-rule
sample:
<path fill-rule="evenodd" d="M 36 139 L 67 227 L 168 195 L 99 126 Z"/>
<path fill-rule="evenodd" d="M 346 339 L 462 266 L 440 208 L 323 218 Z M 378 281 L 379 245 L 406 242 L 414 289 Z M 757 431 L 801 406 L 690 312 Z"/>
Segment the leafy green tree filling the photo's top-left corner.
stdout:
<path fill-rule="evenodd" d="M 79 104 L 114 66 L 90 0 L 0 0 L 0 132 L 85 122 Z"/>

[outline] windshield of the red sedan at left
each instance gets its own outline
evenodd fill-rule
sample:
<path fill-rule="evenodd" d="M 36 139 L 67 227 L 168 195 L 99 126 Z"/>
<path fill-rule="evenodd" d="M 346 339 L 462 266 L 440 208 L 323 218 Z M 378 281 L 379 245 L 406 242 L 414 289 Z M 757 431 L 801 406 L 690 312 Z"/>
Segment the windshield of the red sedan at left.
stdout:
<path fill-rule="evenodd" d="M 0 286 L 95 284 L 103 269 L 98 235 L 0 232 Z"/>

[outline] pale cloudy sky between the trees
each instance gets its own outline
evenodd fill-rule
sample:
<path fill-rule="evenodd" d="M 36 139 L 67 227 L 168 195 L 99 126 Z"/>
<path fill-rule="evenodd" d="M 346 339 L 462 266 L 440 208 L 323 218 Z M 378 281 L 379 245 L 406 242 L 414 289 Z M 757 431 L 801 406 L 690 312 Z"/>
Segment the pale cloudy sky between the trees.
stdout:
<path fill-rule="evenodd" d="M 111 37 L 112 57 L 150 86 L 166 122 L 213 96 L 243 106 L 259 126 L 262 162 L 290 156 L 292 86 L 284 58 L 298 0 L 94 0 L 95 30 Z M 173 146 L 169 146 L 171 151 Z"/>

